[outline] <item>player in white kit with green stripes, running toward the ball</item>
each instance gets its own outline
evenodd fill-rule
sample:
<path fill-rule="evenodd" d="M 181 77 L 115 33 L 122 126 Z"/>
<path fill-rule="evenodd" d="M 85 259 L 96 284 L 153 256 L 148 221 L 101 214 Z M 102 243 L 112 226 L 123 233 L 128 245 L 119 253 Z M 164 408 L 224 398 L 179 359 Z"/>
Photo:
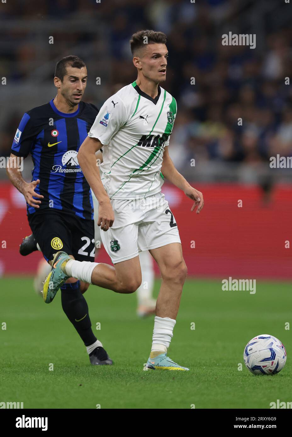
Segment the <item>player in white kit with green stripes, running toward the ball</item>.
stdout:
<path fill-rule="evenodd" d="M 152 347 L 147 369 L 189 370 L 167 357 L 182 287 L 187 275 L 177 223 L 160 187 L 165 179 L 194 201 L 197 214 L 204 205 L 178 173 L 168 154 L 177 104 L 160 83 L 166 79 L 167 38 L 162 32 L 139 31 L 130 41 L 138 77 L 109 97 L 99 111 L 78 161 L 99 202 L 101 239 L 114 264 L 72 260 L 58 252 L 44 284 L 45 302 L 60 284 L 76 277 L 118 293 L 132 293 L 141 284 L 139 251 L 149 250 L 162 283 L 156 303 Z M 102 177 L 95 153 L 103 149 Z M 49 286 L 50 285 L 50 286 Z"/>

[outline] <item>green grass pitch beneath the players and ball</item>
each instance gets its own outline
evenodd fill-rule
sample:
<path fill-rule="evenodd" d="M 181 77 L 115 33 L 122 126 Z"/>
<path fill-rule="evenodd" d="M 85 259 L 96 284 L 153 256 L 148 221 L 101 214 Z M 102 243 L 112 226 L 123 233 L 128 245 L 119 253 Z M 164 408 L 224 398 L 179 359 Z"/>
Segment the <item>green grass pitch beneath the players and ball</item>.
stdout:
<path fill-rule="evenodd" d="M 155 295 L 159 286 L 156 281 Z M 94 332 L 114 360 L 113 366 L 99 367 L 90 365 L 63 313 L 60 292 L 45 305 L 32 278 L 2 278 L 0 326 L 5 322 L 7 329 L 0 329 L 0 402 L 92 409 L 267 409 L 277 399 L 290 402 L 292 334 L 285 323 L 291 322 L 291 285 L 257 281 L 254 295 L 221 286 L 220 280 L 184 285 L 168 355 L 191 371 L 143 371 L 153 317 L 137 318 L 135 294 L 92 285 L 85 294 Z M 243 349 L 252 337 L 267 333 L 282 341 L 288 359 L 278 375 L 254 376 L 245 368 Z"/>

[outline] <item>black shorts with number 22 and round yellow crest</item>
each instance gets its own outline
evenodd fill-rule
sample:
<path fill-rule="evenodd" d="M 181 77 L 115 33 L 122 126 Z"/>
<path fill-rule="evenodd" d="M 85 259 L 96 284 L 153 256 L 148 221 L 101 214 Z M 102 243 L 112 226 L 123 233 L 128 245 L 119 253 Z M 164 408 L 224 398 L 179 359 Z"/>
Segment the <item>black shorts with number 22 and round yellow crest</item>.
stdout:
<path fill-rule="evenodd" d="M 94 220 L 46 209 L 28 215 L 28 223 L 47 261 L 59 250 L 78 261 L 94 261 Z"/>

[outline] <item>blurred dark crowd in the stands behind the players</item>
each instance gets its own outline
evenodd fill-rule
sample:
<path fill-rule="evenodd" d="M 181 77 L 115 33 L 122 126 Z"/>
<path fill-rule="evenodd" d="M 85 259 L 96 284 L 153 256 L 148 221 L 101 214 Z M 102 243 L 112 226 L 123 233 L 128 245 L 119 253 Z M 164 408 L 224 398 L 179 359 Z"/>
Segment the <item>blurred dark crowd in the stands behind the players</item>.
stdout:
<path fill-rule="evenodd" d="M 60 58 L 74 54 L 84 60 L 89 74 L 84 100 L 100 107 L 136 79 L 129 39 L 151 28 L 168 38 L 162 86 L 177 100 L 170 140 L 177 169 L 204 182 L 268 186 L 292 181 L 291 169 L 269 166 L 271 156 L 292 156 L 292 91 L 285 80 L 292 72 L 292 4 L 7 0 L 0 8 L 0 77 L 6 78 L 0 87 L 1 156 L 9 156 L 23 113 L 55 97 L 54 68 Z M 229 31 L 256 34 L 256 48 L 222 45 Z M 0 178 L 5 177 L 0 169 Z"/>

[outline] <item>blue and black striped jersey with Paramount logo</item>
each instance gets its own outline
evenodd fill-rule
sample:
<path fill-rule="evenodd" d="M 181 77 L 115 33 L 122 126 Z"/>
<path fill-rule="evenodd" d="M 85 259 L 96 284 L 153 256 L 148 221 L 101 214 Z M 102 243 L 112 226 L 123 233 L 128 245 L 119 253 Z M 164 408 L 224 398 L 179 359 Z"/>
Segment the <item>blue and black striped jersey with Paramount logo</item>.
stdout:
<path fill-rule="evenodd" d="M 55 208 L 81 218 L 93 218 L 90 187 L 77 152 L 97 114 L 93 104 L 82 101 L 76 112 L 66 114 L 58 111 L 53 100 L 24 114 L 11 153 L 23 157 L 31 153 L 32 180 L 40 180 L 35 191 L 44 196 L 40 208 L 27 205 L 28 215 Z"/>

